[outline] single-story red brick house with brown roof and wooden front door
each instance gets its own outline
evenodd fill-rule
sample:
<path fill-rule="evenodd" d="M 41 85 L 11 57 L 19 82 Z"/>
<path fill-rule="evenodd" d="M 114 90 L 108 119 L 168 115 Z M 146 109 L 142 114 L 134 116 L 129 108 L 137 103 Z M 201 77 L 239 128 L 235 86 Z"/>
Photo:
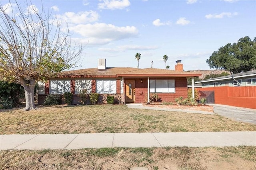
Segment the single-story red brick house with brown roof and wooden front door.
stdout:
<path fill-rule="evenodd" d="M 181 61 L 176 61 L 175 70 L 158 68 L 106 67 L 106 59 L 98 59 L 98 68 L 64 71 L 57 77 L 39 84 L 38 104 L 44 103 L 48 94 L 73 94 L 72 104 L 78 104 L 78 94 L 88 89 L 91 93 L 113 95 L 122 103 L 150 102 L 150 94 L 158 94 L 161 101 L 174 102 L 180 96 L 188 97 L 187 78 L 201 76 L 183 71 Z M 41 85 L 41 86 L 40 86 Z"/>

